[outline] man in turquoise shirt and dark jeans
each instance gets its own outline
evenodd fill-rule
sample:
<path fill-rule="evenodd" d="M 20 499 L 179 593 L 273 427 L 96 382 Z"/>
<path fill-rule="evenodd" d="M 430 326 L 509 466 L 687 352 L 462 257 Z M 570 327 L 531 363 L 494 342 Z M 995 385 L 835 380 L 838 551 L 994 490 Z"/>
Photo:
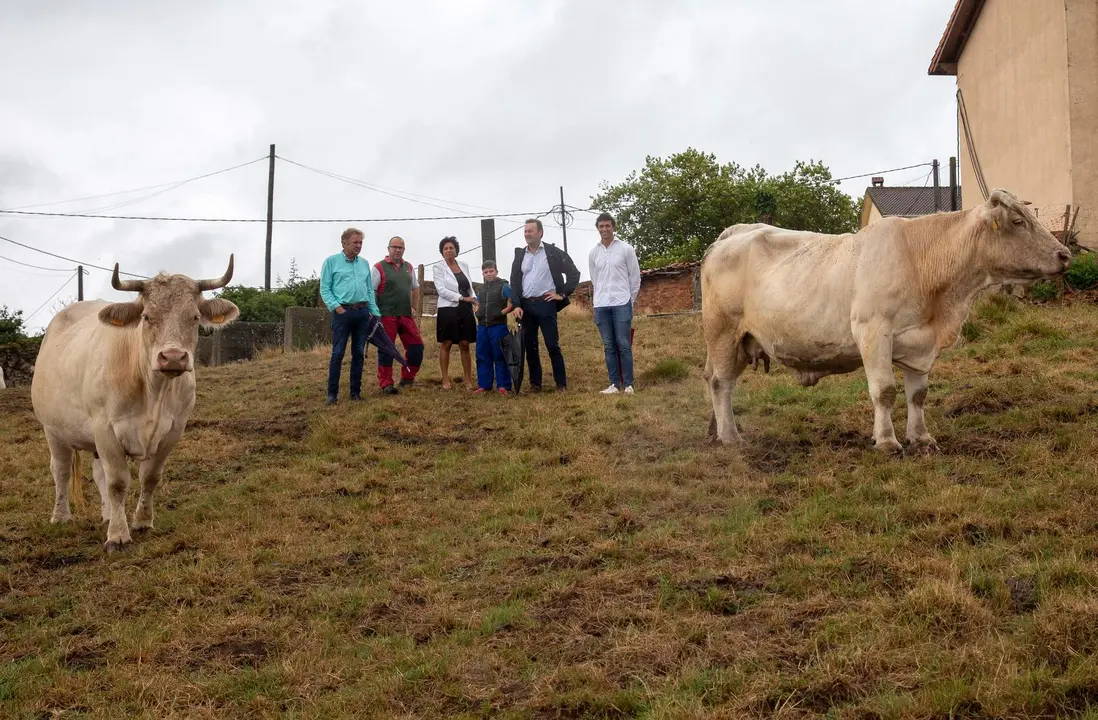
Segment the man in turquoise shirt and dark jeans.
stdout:
<path fill-rule="evenodd" d="M 339 239 L 343 252 L 326 258 L 321 268 L 321 300 L 332 311 L 332 360 L 325 405 L 332 405 L 339 397 L 347 338 L 350 338 L 350 398 L 362 398 L 367 319 L 369 315 L 381 315 L 373 297 L 370 263 L 358 257 L 362 251 L 362 232 L 348 227 Z"/>

